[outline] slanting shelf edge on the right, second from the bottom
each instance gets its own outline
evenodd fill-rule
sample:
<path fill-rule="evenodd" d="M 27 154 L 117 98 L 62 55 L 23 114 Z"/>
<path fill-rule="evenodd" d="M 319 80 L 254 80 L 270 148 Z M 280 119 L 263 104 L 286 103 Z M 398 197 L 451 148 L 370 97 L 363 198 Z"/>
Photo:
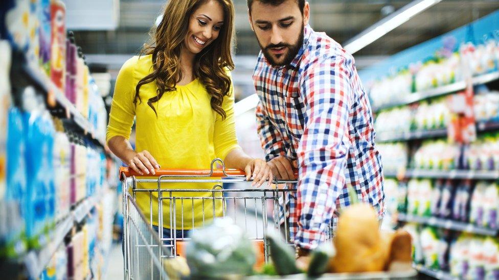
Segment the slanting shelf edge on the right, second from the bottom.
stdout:
<path fill-rule="evenodd" d="M 486 236 L 497 236 L 497 230 L 491 228 L 476 226 L 474 224 L 459 222 L 449 219 L 441 219 L 436 217 L 420 217 L 399 213 L 398 220 L 402 222 L 416 222 L 436 227 L 446 228 L 447 230 L 467 232 Z"/>

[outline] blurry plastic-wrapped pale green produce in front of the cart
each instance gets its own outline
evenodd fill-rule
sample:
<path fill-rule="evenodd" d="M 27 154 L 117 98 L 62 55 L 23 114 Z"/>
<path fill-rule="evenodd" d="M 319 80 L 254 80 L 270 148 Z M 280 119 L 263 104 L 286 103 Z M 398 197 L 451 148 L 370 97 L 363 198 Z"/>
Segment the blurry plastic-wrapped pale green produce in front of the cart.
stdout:
<path fill-rule="evenodd" d="M 252 242 L 230 218 L 194 231 L 186 258 L 192 276 L 199 278 L 250 275 L 256 262 Z"/>

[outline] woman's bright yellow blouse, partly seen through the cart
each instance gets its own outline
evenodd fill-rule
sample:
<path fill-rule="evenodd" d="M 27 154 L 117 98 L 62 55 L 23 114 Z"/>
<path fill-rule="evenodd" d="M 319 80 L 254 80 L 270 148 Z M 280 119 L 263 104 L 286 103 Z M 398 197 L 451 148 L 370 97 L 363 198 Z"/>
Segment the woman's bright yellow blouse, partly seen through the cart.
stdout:
<path fill-rule="evenodd" d="M 151 55 L 133 57 L 125 62 L 116 80 L 115 93 L 112 97 L 106 141 L 112 137 L 123 136 L 129 139 L 133 118 L 136 117 L 135 150 L 147 150 L 156 159 L 161 168 L 172 169 L 209 169 L 215 158 L 225 156 L 238 148 L 234 121 L 233 88 L 225 96 L 222 108 L 226 118 L 212 110 L 211 96 L 199 80 L 179 86 L 176 91 L 166 92 L 154 103 L 157 118 L 147 104 L 147 100 L 156 95 L 156 83 L 149 83 L 140 88 L 142 103 L 133 104 L 135 86 L 152 70 Z M 153 178 L 154 177 L 147 177 Z M 213 183 L 162 183 L 162 189 L 209 189 Z M 141 183 L 139 189 L 156 189 L 157 184 Z M 176 229 L 190 229 L 201 226 L 205 221 L 222 215 L 221 199 L 202 199 L 212 197 L 212 192 L 173 192 L 177 197 L 175 207 L 171 199 L 163 200 L 163 226 Z M 163 197 L 170 197 L 167 192 Z M 221 197 L 217 193 L 216 197 Z M 215 200 L 215 205 L 213 205 Z M 147 219 L 152 214 L 152 224 L 158 225 L 157 192 L 138 192 L 136 201 Z M 152 203 L 152 213 L 151 206 Z M 170 214 L 175 218 L 170 222 Z M 172 223 L 176 222 L 175 225 Z"/>

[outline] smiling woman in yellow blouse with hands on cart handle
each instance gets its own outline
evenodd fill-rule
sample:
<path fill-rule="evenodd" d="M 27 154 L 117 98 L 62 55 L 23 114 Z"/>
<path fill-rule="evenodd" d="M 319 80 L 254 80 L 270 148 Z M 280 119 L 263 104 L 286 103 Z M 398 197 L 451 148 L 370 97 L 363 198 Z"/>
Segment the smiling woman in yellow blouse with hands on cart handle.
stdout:
<path fill-rule="evenodd" d="M 228 168 L 243 169 L 246 179 L 261 186 L 272 173 L 260 159 L 247 156 L 238 146 L 234 123 L 234 94 L 228 70 L 231 57 L 234 7 L 231 0 L 170 0 L 157 26 L 147 55 L 129 59 L 120 70 L 112 99 L 107 143 L 129 167 L 154 175 L 160 166 L 207 169 L 214 158 Z M 137 147 L 128 142 L 136 117 Z M 139 188 L 157 188 L 142 184 Z M 207 189 L 212 183 L 168 183 L 167 189 Z M 157 193 L 140 192 L 137 202 L 158 226 Z M 220 194 L 220 193 L 218 193 Z M 174 193 L 174 196 L 211 197 L 211 192 Z M 222 215 L 221 199 L 163 200 L 163 227 L 171 237 L 170 214 L 176 228 L 190 230 Z M 215 203 L 213 206 L 212 203 Z M 183 233 L 184 234 L 184 233 Z M 178 235 L 178 233 L 177 233 Z M 183 235 L 184 236 L 184 235 Z"/>

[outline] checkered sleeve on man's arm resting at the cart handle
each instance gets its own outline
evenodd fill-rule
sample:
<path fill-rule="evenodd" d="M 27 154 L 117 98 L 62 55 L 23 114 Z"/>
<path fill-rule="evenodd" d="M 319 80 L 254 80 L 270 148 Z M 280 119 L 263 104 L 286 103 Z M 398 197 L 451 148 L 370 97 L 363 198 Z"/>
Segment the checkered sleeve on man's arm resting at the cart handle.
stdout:
<path fill-rule="evenodd" d="M 259 101 L 256 109 L 256 117 L 258 136 L 265 151 L 265 160 L 269 161 L 278 156 L 285 156 L 286 151 L 284 150 L 281 133 L 268 119 L 261 101 Z"/>

